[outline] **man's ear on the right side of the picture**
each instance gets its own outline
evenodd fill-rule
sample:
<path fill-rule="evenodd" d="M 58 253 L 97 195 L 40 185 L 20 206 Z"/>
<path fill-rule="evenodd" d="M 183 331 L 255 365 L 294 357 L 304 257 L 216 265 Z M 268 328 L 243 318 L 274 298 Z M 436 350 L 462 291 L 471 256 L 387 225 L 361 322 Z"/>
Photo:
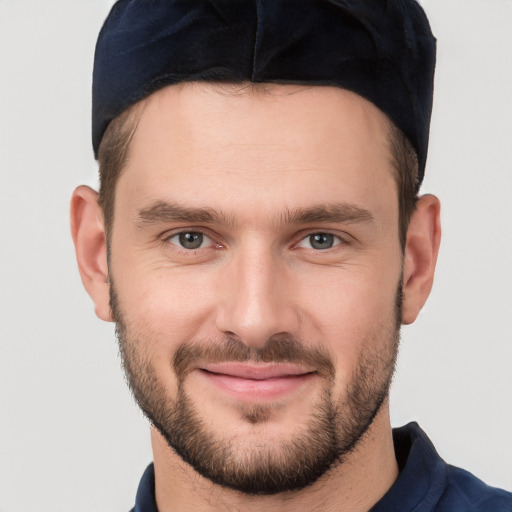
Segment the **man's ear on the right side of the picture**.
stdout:
<path fill-rule="evenodd" d="M 416 320 L 425 304 L 436 268 L 441 243 L 441 204 L 433 195 L 418 199 L 405 245 L 402 323 Z"/>

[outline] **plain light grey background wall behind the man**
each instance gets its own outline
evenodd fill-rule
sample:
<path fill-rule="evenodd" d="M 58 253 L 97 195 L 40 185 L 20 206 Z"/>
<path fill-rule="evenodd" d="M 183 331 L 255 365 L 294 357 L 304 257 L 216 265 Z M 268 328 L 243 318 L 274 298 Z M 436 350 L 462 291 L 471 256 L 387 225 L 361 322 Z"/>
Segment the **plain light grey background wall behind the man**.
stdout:
<path fill-rule="evenodd" d="M 90 88 L 106 0 L 0 0 L 0 511 L 126 511 L 151 460 L 113 327 L 69 236 L 95 186 Z M 431 299 L 403 331 L 394 425 L 512 487 L 512 2 L 424 0 L 439 64 L 424 192 L 442 200 Z"/>

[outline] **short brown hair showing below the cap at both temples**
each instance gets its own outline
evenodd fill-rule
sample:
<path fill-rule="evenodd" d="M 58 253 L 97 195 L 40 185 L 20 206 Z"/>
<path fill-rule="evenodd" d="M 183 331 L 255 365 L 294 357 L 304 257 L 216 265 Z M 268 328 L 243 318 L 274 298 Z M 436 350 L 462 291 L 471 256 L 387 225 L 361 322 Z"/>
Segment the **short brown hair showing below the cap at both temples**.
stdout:
<path fill-rule="evenodd" d="M 142 104 L 136 103 L 109 124 L 98 150 L 99 204 L 103 209 L 107 238 L 110 236 L 114 220 L 116 183 L 129 159 L 130 142 L 142 115 Z M 404 251 L 409 222 L 418 198 L 418 157 L 400 128 L 391 121 L 389 125 L 388 146 L 398 191 L 398 236 Z"/>

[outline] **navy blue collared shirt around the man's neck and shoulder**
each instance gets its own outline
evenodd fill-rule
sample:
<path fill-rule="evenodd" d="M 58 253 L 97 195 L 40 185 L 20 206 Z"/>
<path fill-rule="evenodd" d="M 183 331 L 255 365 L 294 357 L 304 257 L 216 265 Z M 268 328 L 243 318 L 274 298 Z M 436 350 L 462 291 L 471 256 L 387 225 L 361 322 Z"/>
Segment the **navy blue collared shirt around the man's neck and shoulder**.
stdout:
<path fill-rule="evenodd" d="M 417 423 L 393 430 L 400 475 L 370 512 L 511 512 L 512 494 L 446 464 Z M 148 466 L 132 512 L 158 512 Z"/>

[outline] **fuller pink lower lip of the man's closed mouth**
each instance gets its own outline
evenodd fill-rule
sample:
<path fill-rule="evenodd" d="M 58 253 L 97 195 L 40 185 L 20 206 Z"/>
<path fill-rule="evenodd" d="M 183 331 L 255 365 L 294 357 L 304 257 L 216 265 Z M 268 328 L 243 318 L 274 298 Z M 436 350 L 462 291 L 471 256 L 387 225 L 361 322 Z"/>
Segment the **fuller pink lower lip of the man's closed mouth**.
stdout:
<path fill-rule="evenodd" d="M 201 373 L 212 385 L 221 391 L 245 401 L 265 401 L 282 398 L 298 390 L 314 378 L 313 373 L 261 380 L 244 379 L 205 370 L 201 370 Z"/>

